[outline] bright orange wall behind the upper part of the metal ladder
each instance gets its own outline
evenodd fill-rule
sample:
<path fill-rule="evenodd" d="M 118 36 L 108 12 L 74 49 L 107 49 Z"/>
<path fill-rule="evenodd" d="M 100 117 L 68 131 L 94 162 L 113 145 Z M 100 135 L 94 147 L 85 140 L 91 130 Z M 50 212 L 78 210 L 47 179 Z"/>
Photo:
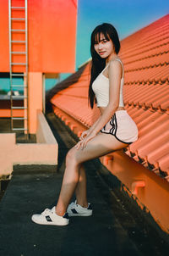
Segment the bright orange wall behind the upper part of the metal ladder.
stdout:
<path fill-rule="evenodd" d="M 18 3 L 18 4 L 17 4 Z M 23 1 L 13 0 L 13 6 Z M 28 0 L 29 71 L 44 73 L 74 72 L 77 21 L 77 0 Z M 13 17 L 23 17 L 23 11 L 14 11 Z M 24 23 L 15 21 L 14 29 L 23 29 Z M 14 34 L 23 39 L 24 34 Z M 18 45 L 15 45 L 17 50 Z M 20 46 L 23 47 L 24 45 Z M 0 72 L 9 71 L 8 1 L 0 1 Z M 22 59 L 21 59 L 22 58 Z M 23 56 L 15 56 L 22 62 Z M 17 71 L 17 70 L 16 70 Z"/>

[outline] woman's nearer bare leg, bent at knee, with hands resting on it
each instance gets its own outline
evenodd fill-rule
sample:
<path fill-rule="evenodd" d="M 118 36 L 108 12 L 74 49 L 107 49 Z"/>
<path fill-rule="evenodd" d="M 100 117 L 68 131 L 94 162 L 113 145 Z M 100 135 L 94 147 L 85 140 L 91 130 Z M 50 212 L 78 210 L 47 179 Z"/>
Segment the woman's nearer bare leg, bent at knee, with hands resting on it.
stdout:
<path fill-rule="evenodd" d="M 79 182 L 79 169 L 82 163 L 127 147 L 127 145 L 117 141 L 112 135 L 98 134 L 87 143 L 83 150 L 72 147 L 66 157 L 66 169 L 63 176 L 63 185 L 57 201 L 56 213 L 62 216 L 66 212 L 68 203 Z"/>

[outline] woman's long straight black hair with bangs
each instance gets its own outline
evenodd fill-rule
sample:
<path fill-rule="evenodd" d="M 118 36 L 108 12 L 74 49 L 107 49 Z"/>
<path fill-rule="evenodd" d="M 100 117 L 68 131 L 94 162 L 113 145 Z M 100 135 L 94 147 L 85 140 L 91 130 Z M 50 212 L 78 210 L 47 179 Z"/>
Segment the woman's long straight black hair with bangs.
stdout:
<path fill-rule="evenodd" d="M 95 52 L 94 48 L 95 42 L 98 43 L 101 41 L 101 33 L 105 36 L 107 41 L 112 40 L 115 53 L 119 53 L 120 51 L 120 41 L 114 26 L 109 23 L 103 23 L 101 25 L 96 26 L 95 30 L 91 33 L 90 41 L 90 53 L 92 61 L 90 70 L 89 102 L 91 109 L 93 109 L 95 102 L 95 93 L 92 89 L 92 83 L 93 81 L 95 81 L 97 75 L 99 75 L 106 66 L 106 58 L 101 58 L 99 54 Z"/>

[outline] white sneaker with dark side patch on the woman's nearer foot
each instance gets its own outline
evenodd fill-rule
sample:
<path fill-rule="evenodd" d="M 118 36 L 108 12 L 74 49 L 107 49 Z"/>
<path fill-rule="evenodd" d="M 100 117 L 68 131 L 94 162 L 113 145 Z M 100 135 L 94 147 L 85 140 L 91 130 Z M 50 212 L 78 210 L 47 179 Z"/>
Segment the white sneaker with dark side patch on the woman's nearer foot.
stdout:
<path fill-rule="evenodd" d="M 55 206 L 52 209 L 45 209 L 41 214 L 33 214 L 31 220 L 41 225 L 68 225 L 68 213 L 59 216 L 55 212 Z"/>

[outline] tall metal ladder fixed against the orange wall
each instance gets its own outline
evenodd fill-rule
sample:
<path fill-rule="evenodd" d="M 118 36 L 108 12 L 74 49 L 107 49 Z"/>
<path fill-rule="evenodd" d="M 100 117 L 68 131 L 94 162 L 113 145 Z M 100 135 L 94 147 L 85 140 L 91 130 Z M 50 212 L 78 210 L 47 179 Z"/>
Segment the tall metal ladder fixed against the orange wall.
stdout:
<path fill-rule="evenodd" d="M 11 2 L 13 6 L 11 6 Z M 11 131 L 23 131 L 29 134 L 29 120 L 28 120 L 28 23 L 27 23 L 27 0 L 23 0 L 23 6 L 14 5 L 14 0 L 8 0 L 8 24 L 9 24 L 9 67 L 10 67 L 10 104 L 11 104 Z M 16 1 L 17 3 L 17 1 Z M 22 4 L 21 4 L 22 5 Z M 21 12 L 22 17 L 15 17 L 17 12 Z M 17 24 L 16 24 L 17 22 Z M 15 23 L 15 24 L 14 24 Z M 14 29 L 17 25 L 24 25 L 24 29 Z M 22 35 L 20 35 L 22 33 Z M 14 40 L 14 36 L 25 35 L 25 40 Z M 14 50 L 14 47 L 18 50 Z M 21 50 L 19 50 L 19 47 Z M 23 48 L 25 50 L 23 51 Z M 14 60 L 17 56 L 22 55 L 25 61 L 19 63 Z M 16 70 L 17 67 L 17 70 Z M 14 83 L 14 78 L 22 77 L 23 84 L 17 85 Z M 14 89 L 19 88 L 23 94 L 14 95 Z M 15 106 L 14 100 L 23 101 L 23 106 Z M 16 102 L 16 101 L 15 101 Z M 24 115 L 21 117 L 14 117 L 15 109 L 23 109 Z M 22 110 L 21 110 L 22 111 Z M 14 120 L 23 120 L 22 127 L 15 127 Z"/>

